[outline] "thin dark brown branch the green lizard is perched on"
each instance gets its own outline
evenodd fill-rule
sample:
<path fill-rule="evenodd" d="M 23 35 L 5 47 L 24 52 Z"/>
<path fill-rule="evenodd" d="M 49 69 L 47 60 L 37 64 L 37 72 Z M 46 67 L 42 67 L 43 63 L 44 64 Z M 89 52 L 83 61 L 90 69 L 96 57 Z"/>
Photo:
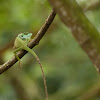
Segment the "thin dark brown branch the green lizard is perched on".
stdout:
<path fill-rule="evenodd" d="M 42 37 L 44 36 L 44 34 L 47 32 L 49 26 L 53 22 L 53 20 L 55 18 L 55 15 L 56 15 L 55 11 L 52 10 L 52 12 L 48 16 L 45 24 L 41 27 L 41 29 L 39 30 L 39 32 L 37 33 L 37 35 L 35 36 L 35 38 L 29 43 L 29 45 L 28 45 L 29 48 L 33 48 L 34 46 L 36 46 L 39 43 L 39 41 L 42 39 Z M 25 51 L 25 50 L 21 50 L 20 52 L 18 52 L 19 58 L 21 59 L 26 53 L 27 53 L 27 51 Z M 18 60 L 16 59 L 16 57 L 13 56 L 12 59 L 10 59 L 9 61 L 7 61 L 3 65 L 0 65 L 0 74 L 2 74 L 7 69 L 9 69 L 10 67 L 12 67 L 17 61 Z"/>

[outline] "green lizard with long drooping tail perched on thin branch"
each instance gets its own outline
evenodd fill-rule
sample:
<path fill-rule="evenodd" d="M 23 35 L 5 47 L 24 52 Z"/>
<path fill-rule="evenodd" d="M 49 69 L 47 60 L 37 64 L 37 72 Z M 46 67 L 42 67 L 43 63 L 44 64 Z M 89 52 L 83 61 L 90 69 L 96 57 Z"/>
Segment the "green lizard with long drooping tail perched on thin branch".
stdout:
<path fill-rule="evenodd" d="M 30 52 L 33 56 L 35 56 L 36 60 L 38 61 L 39 65 L 41 67 L 41 70 L 42 70 L 42 75 L 43 75 L 43 80 L 44 80 L 44 86 L 45 86 L 45 92 L 46 92 L 46 100 L 48 100 L 47 85 L 46 85 L 46 80 L 45 80 L 44 71 L 43 71 L 41 62 L 40 62 L 38 56 L 36 55 L 36 53 L 27 46 L 27 44 L 31 41 L 31 36 L 32 36 L 32 33 L 25 32 L 25 33 L 20 33 L 16 37 L 15 42 L 14 42 L 14 49 L 15 49 L 14 50 L 14 54 L 15 54 L 15 57 L 19 61 L 19 66 L 21 66 L 20 58 L 16 55 L 16 53 L 18 51 L 24 49 L 24 50 Z"/>

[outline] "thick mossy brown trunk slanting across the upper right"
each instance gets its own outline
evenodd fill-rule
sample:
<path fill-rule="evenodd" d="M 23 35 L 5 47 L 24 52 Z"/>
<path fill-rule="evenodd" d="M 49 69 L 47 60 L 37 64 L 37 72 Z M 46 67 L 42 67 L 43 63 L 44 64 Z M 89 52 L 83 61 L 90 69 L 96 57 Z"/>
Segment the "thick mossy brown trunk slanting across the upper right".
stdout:
<path fill-rule="evenodd" d="M 100 34 L 86 18 L 76 0 L 49 2 L 100 72 Z"/>

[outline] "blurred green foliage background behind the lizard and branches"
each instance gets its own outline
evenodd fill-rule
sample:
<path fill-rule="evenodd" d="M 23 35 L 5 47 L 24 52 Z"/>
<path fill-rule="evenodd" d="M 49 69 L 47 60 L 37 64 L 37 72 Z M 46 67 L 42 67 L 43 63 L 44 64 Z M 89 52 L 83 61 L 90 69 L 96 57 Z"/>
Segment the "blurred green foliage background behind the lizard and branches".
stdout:
<path fill-rule="evenodd" d="M 77 1 L 89 6 L 96 0 Z M 0 0 L 0 64 L 13 56 L 15 37 L 21 32 L 34 37 L 51 10 L 47 0 Z M 100 9 L 85 14 L 100 31 Z M 99 74 L 58 16 L 33 50 L 43 65 L 49 100 L 100 100 Z M 21 69 L 16 63 L 0 75 L 0 100 L 45 100 L 36 59 L 28 53 L 21 63 Z"/>

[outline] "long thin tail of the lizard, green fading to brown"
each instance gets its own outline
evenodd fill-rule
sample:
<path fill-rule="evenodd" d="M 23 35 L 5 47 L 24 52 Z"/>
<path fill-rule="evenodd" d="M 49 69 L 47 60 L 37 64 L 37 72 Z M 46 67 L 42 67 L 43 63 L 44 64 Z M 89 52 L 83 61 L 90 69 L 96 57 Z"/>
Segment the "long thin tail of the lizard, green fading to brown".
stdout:
<path fill-rule="evenodd" d="M 33 56 L 35 56 L 36 60 L 38 61 L 39 65 L 40 65 L 40 68 L 41 68 L 41 71 L 42 71 L 42 76 L 43 76 L 43 81 L 44 81 L 44 86 L 45 86 L 46 100 L 48 100 L 47 84 L 46 84 L 46 79 L 45 79 L 42 64 L 41 64 L 38 56 L 36 55 L 36 53 L 32 49 L 28 48 L 27 46 L 25 46 L 23 49 L 25 49 L 26 51 L 30 52 Z"/>

